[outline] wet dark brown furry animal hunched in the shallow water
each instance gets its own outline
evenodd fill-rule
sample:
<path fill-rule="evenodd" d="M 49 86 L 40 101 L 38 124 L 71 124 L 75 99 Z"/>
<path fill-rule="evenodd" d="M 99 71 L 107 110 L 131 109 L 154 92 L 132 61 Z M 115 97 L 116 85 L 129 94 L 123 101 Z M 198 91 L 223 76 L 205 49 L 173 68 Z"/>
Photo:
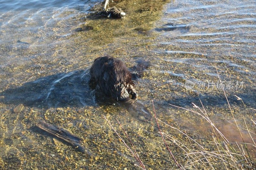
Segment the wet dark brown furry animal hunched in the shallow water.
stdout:
<path fill-rule="evenodd" d="M 116 100 L 137 98 L 131 72 L 124 62 L 110 56 L 96 58 L 90 69 L 91 78 L 95 80 L 102 92 Z"/>

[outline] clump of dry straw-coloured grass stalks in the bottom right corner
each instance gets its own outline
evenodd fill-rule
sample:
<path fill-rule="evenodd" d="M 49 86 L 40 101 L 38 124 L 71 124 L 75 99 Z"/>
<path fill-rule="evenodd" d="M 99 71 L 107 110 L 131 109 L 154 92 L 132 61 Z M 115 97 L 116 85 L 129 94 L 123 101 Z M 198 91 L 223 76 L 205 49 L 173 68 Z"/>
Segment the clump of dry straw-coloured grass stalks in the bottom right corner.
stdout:
<path fill-rule="evenodd" d="M 216 71 L 218 73 L 217 68 L 216 68 Z M 218 73 L 218 78 L 220 80 L 219 73 Z M 220 83 L 221 83 L 221 80 L 220 80 Z M 251 145 L 253 147 L 256 147 L 254 138 L 252 136 L 252 135 L 256 134 L 256 130 L 255 130 L 256 122 L 253 121 L 252 118 L 251 118 L 252 125 L 253 125 L 255 133 L 249 130 L 244 116 L 243 116 L 243 119 L 244 119 L 245 127 L 243 128 L 241 126 L 238 126 L 237 121 L 236 121 L 235 116 L 232 112 L 231 106 L 230 106 L 229 101 L 228 101 L 228 97 L 226 95 L 226 92 L 225 92 L 223 86 L 222 86 L 222 90 L 223 90 L 224 95 L 226 97 L 226 100 L 228 102 L 228 107 L 230 109 L 232 118 L 235 121 L 234 125 L 238 129 L 239 134 L 240 134 L 243 142 L 242 143 L 237 143 L 237 142 L 230 143 L 228 141 L 228 139 L 220 132 L 220 130 L 210 120 L 206 110 L 204 109 L 204 105 L 203 105 L 201 100 L 200 100 L 200 102 L 201 102 L 201 105 L 202 105 L 202 109 L 200 107 L 196 106 L 196 104 L 192 103 L 193 107 L 198 109 L 198 111 L 194 111 L 194 110 L 191 110 L 191 109 L 178 107 L 178 106 L 170 104 L 171 106 L 181 108 L 181 109 L 184 109 L 184 110 L 188 110 L 189 112 L 200 115 L 207 122 L 210 123 L 210 125 L 212 127 L 212 130 L 213 130 L 212 138 L 213 138 L 213 141 L 214 141 L 214 145 L 216 146 L 216 150 L 214 149 L 212 151 L 206 151 L 206 149 L 204 149 L 204 147 L 201 144 L 199 144 L 194 139 L 189 137 L 187 133 L 184 133 L 184 132 L 180 131 L 179 129 L 177 129 L 175 127 L 172 127 L 172 126 L 163 122 L 165 125 L 171 127 L 172 129 L 178 130 L 180 133 L 182 133 L 183 135 L 188 137 L 188 140 L 189 140 L 189 143 L 190 143 L 192 149 L 189 148 L 188 145 L 182 144 L 181 141 L 178 141 L 177 139 L 171 137 L 170 135 L 167 135 L 164 132 L 161 133 L 168 140 L 172 141 L 174 144 L 176 144 L 180 149 L 182 149 L 185 152 L 185 155 L 187 156 L 189 161 L 184 165 L 184 168 L 189 168 L 191 166 L 193 168 L 196 168 L 196 166 L 200 166 L 201 168 L 203 167 L 204 169 L 205 168 L 208 169 L 207 165 L 209 165 L 212 169 L 216 169 L 216 167 L 220 167 L 220 166 L 222 166 L 222 167 L 224 166 L 225 169 L 256 169 L 256 159 L 255 159 L 256 157 L 255 157 L 255 155 L 253 155 L 253 157 L 250 155 L 248 147 L 247 147 L 247 145 Z M 249 115 L 249 111 L 246 108 L 243 100 L 238 96 L 236 96 L 236 97 L 237 97 L 238 100 L 242 101 L 242 103 L 243 103 L 243 105 L 244 105 L 244 107 L 247 111 L 247 114 Z M 252 109 L 252 110 L 255 110 L 255 109 Z M 156 120 L 158 120 L 159 122 L 162 122 L 161 120 L 159 120 L 157 118 L 156 118 Z M 245 129 L 248 132 L 250 138 L 252 139 L 251 144 L 248 144 L 248 143 L 244 142 L 244 138 L 242 136 L 242 133 L 241 133 L 240 129 Z M 196 144 L 196 146 L 199 147 L 200 150 L 196 150 L 196 148 L 193 146 L 192 142 L 194 144 Z M 222 165 L 221 165 L 221 162 L 223 163 Z"/>

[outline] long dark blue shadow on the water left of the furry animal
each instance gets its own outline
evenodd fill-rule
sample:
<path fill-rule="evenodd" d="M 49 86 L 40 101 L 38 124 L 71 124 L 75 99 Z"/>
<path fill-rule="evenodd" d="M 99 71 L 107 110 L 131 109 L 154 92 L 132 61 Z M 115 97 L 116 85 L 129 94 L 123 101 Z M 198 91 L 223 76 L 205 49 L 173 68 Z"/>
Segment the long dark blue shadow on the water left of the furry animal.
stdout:
<path fill-rule="evenodd" d="M 0 102 L 40 108 L 95 106 L 89 80 L 88 70 L 58 73 L 6 89 L 0 93 L 4 96 Z"/>

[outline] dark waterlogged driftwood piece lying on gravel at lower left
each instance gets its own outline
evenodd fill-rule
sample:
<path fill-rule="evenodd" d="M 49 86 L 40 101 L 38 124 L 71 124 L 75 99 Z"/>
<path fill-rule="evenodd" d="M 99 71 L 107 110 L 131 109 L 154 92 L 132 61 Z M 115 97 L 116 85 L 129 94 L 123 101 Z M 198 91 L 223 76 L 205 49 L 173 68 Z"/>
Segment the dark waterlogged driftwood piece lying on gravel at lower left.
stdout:
<path fill-rule="evenodd" d="M 36 127 L 52 134 L 55 137 L 58 137 L 68 144 L 71 144 L 73 147 L 77 149 L 77 151 L 84 153 L 85 149 L 84 147 L 80 144 L 81 138 L 71 134 L 68 130 L 65 130 L 63 128 L 58 128 L 56 126 L 53 126 L 49 123 L 46 123 L 42 120 L 38 120 L 36 122 Z"/>

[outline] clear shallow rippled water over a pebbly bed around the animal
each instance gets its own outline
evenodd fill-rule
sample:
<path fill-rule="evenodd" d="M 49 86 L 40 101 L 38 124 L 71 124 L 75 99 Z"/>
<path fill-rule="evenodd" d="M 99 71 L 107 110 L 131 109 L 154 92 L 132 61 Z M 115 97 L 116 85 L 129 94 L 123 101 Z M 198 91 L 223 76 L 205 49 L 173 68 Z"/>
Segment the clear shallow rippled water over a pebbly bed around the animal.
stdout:
<path fill-rule="evenodd" d="M 145 109 L 153 116 L 151 100 L 160 120 L 186 129 L 207 147 L 210 124 L 169 105 L 195 109 L 191 103 L 201 106 L 201 100 L 228 140 L 241 142 L 216 68 L 239 126 L 243 116 L 248 122 L 256 118 L 254 0 L 111 2 L 126 12 L 123 19 L 97 16 L 103 5 L 97 0 L 0 4 L 0 168 L 136 168 L 103 115 L 125 138 L 115 118 L 123 125 L 147 169 L 175 168 L 154 119 L 144 122 L 138 115 Z M 147 64 L 134 80 L 137 101 L 117 102 L 90 87 L 88 70 L 103 55 L 123 60 L 132 72 Z M 86 152 L 36 128 L 38 120 L 68 129 Z M 241 133 L 252 143 L 246 130 Z"/>

